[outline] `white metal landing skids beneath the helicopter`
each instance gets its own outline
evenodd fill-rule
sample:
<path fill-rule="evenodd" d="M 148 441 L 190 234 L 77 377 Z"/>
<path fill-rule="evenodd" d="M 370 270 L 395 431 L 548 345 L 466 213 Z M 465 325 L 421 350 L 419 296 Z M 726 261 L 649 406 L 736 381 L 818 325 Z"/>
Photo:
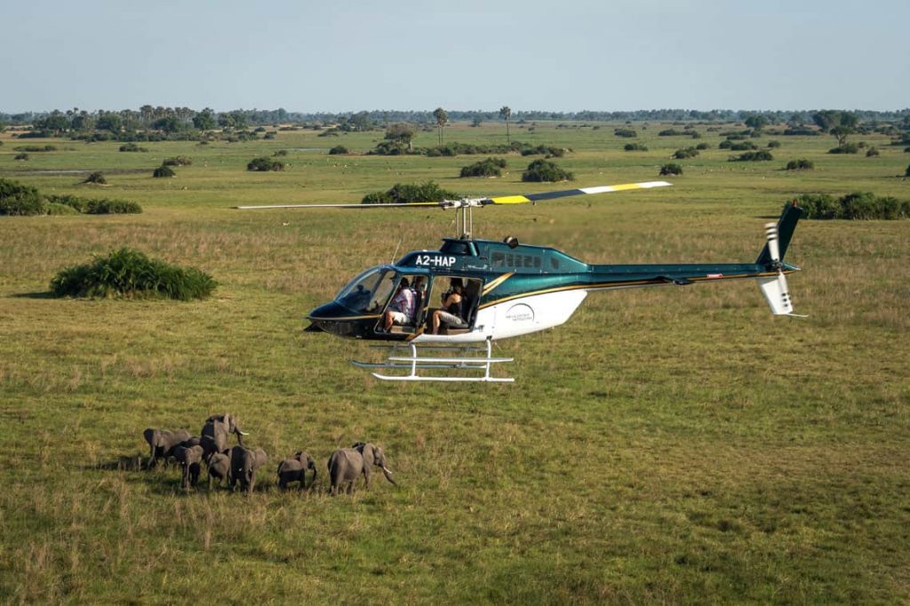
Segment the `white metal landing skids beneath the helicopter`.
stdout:
<path fill-rule="evenodd" d="M 450 381 L 450 382 L 484 382 L 484 383 L 513 383 L 511 377 L 490 377 L 490 368 L 493 364 L 511 362 L 511 358 L 493 358 L 492 341 L 488 338 L 486 347 L 465 347 L 463 345 L 421 345 L 414 343 L 407 345 L 396 344 L 390 346 L 391 351 L 385 362 L 361 362 L 351 360 L 351 364 L 359 369 L 396 369 L 407 370 L 407 375 L 384 375 L 379 372 L 370 373 L 376 379 L 383 381 Z M 407 356 L 396 355 L 404 349 L 410 353 Z M 420 356 L 420 350 L 433 350 L 438 352 L 435 356 Z M 471 356 L 470 352 L 480 352 L 484 355 Z M 417 373 L 418 370 L 454 370 L 467 373 L 482 371 L 483 376 L 441 376 L 434 374 Z"/>

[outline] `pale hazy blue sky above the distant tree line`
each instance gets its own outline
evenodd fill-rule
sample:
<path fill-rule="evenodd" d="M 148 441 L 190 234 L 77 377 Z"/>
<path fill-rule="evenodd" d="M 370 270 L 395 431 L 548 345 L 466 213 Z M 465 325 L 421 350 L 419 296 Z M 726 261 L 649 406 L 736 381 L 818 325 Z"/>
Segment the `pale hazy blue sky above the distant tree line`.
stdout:
<path fill-rule="evenodd" d="M 4 0 L 0 111 L 910 106 L 910 0 Z"/>

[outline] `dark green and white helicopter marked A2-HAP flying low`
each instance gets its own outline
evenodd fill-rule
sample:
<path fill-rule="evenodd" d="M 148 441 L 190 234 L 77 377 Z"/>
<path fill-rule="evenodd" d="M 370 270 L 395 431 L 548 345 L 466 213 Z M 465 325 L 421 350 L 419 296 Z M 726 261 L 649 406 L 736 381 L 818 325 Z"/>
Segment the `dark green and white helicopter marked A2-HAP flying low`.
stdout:
<path fill-rule="evenodd" d="M 245 206 L 267 208 L 389 208 L 440 207 L 454 209 L 455 237 L 443 237 L 439 249 L 414 250 L 391 264 L 379 265 L 351 279 L 331 301 L 307 315 L 308 332 L 341 338 L 379 341 L 390 348 L 383 362 L 351 360 L 388 381 L 512 382 L 492 376 L 494 365 L 511 358 L 494 357 L 492 342 L 555 328 L 565 323 L 588 293 L 620 288 L 690 286 L 699 282 L 754 279 L 774 315 L 796 316 L 786 275 L 799 271 L 784 263 L 784 254 L 803 210 L 784 207 L 776 223 L 765 225 L 766 243 L 753 263 L 659 265 L 591 265 L 553 247 L 523 244 L 515 237 L 503 241 L 472 237 L 473 209 L 496 205 L 538 204 L 561 197 L 605 194 L 633 189 L 669 187 L 666 181 L 581 187 L 504 197 L 463 197 L 439 202 L 396 204 L 310 204 Z M 415 285 L 417 288 L 412 288 Z M 440 326 L 434 318 L 440 303 L 460 286 L 460 319 Z M 386 314 L 400 288 L 412 288 L 415 311 L 404 324 L 389 322 Z M 385 370 L 391 369 L 391 374 Z M 439 373 L 446 370 L 445 373 Z M 450 372 L 456 371 L 456 372 Z M 478 372 L 480 371 L 480 373 Z M 404 373 L 404 374 L 399 374 Z"/>

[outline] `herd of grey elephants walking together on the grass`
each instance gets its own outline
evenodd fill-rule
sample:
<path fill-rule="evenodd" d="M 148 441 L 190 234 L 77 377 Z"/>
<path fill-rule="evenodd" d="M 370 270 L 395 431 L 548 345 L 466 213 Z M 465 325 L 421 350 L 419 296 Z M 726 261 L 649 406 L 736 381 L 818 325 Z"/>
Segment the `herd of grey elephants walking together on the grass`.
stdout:
<path fill-rule="evenodd" d="M 231 434 L 237 436 L 238 445 L 227 447 Z M 256 483 L 256 472 L 266 464 L 266 452 L 263 449 L 248 449 L 243 445 L 243 436 L 247 433 L 240 430 L 238 419 L 230 414 L 213 415 L 206 419 L 199 437 L 191 436 L 188 431 L 179 429 L 146 429 L 143 436 L 151 449 L 147 468 L 154 467 L 158 460 L 173 457 L 183 470 L 181 487 L 195 487 L 202 470 L 202 463 L 208 470 L 208 490 L 221 486 L 227 480 L 227 486 L 236 490 L 252 493 Z M 329 492 L 338 494 L 339 490 L 354 490 L 354 482 L 362 475 L 369 489 L 369 471 L 373 467 L 382 470 L 386 480 L 392 484 L 392 472 L 386 466 L 386 455 L 379 446 L 358 442 L 349 449 L 335 450 L 329 457 Z M 299 482 L 299 488 L 306 488 L 307 471 L 312 471 L 309 486 L 316 482 L 316 462 L 306 452 L 300 450 L 290 459 L 278 464 L 278 488 L 287 490 L 291 482 Z"/>

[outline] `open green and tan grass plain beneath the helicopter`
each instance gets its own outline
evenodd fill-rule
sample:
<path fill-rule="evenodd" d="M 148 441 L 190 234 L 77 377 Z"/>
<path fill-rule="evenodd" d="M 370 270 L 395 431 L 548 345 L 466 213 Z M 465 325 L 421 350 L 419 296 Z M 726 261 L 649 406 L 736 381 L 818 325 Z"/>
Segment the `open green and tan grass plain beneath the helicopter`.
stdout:
<path fill-rule="evenodd" d="M 513 125 L 571 147 L 578 187 L 674 187 L 475 213 L 506 235 L 595 263 L 751 261 L 763 223 L 802 193 L 910 198 L 910 155 L 834 156 L 831 136 L 730 163 L 723 137 L 659 137 L 647 152 L 598 129 Z M 723 130 L 727 127 L 724 126 Z M 514 385 L 387 385 L 362 344 L 303 334 L 306 313 L 361 269 L 433 248 L 439 210 L 238 211 L 358 202 L 433 179 L 464 194 L 561 186 L 460 179 L 482 157 L 366 157 L 382 133 L 282 131 L 247 143 L 23 140 L 0 135 L 0 177 L 43 193 L 135 200 L 131 216 L 0 217 L 0 600 L 20 603 L 900 603 L 910 601 L 910 222 L 804 221 L 787 260 L 796 311 L 753 283 L 594 293 L 570 322 L 502 341 Z M 501 125 L 448 141 L 504 142 Z M 435 131 L 416 145 L 431 146 Z M 17 145 L 56 145 L 15 161 Z M 357 154 L 328 156 L 343 144 Z M 247 162 L 288 149 L 282 173 Z M 165 157 L 191 157 L 156 179 Z M 805 157 L 813 171 L 788 172 Z M 108 187 L 79 185 L 101 170 Z M 61 268 L 136 247 L 203 269 L 215 296 L 178 303 L 50 298 Z M 251 497 L 136 470 L 142 430 L 198 433 L 230 411 L 266 449 Z M 384 447 L 399 485 L 329 498 L 324 461 Z M 317 490 L 279 493 L 306 449 Z"/>

